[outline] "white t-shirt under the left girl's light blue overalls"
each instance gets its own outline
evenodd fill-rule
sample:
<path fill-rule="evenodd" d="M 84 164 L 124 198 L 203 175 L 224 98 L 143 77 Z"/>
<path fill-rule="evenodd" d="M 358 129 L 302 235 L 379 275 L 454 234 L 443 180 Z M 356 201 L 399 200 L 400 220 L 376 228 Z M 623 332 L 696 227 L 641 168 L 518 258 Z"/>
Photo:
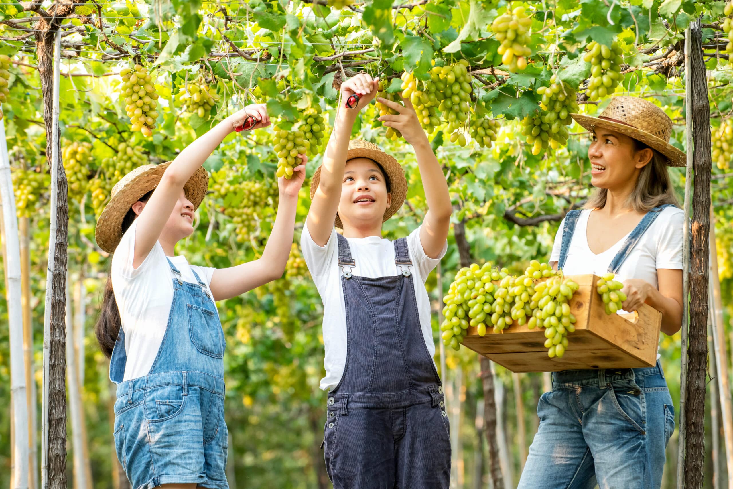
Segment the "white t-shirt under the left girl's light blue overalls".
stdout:
<path fill-rule="evenodd" d="M 148 375 L 155 356 L 161 348 L 163 335 L 173 303 L 173 279 L 166 254 L 161 243 L 156 242 L 140 266 L 133 268 L 135 256 L 135 229 L 122 235 L 112 255 L 112 288 L 117 301 L 122 330 L 125 331 L 125 377 L 123 380 Z M 184 282 L 196 284 L 193 269 L 207 287 L 216 268 L 188 265 L 183 256 L 168 257 L 181 273 Z M 211 293 L 209 291 L 209 293 Z"/>

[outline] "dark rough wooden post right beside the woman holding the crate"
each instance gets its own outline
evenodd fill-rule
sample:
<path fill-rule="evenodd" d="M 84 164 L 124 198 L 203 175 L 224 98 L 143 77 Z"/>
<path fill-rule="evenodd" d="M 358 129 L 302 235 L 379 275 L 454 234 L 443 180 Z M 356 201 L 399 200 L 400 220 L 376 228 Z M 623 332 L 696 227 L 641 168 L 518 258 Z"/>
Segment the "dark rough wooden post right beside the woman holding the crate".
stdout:
<path fill-rule="evenodd" d="M 692 85 L 693 166 L 695 188 L 692 205 L 690 247 L 690 326 L 688 331 L 688 383 L 685 392 L 685 488 L 702 487 L 704 472 L 705 374 L 707 370 L 707 282 L 710 233 L 710 103 L 702 58 L 702 30 L 699 21 L 690 23 L 690 65 L 687 79 Z"/>

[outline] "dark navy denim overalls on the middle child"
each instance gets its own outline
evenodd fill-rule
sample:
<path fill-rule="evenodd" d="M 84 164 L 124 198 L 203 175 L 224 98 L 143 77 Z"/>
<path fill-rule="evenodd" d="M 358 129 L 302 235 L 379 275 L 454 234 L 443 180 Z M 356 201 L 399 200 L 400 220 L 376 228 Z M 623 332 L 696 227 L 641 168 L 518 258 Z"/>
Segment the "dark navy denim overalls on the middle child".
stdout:
<path fill-rule="evenodd" d="M 420 328 L 407 240 L 394 241 L 402 273 L 370 279 L 351 274 L 356 262 L 337 236 L 347 354 L 328 393 L 328 475 L 335 489 L 448 488 L 443 387 Z"/>

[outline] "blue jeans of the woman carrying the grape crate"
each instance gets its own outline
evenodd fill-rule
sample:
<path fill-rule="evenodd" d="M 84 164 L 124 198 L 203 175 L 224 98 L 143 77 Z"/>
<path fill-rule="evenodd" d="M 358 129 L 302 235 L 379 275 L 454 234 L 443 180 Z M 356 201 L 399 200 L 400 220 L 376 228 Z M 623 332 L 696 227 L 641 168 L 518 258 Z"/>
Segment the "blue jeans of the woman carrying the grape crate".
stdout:
<path fill-rule="evenodd" d="M 517 489 L 658 489 L 674 406 L 656 367 L 553 373 Z"/>

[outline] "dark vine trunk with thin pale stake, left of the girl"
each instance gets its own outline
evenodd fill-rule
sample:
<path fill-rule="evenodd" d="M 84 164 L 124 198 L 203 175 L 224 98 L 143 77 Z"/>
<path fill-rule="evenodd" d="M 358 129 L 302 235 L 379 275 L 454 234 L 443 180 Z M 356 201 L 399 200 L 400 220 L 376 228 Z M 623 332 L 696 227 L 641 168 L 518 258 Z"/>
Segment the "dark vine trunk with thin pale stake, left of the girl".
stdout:
<path fill-rule="evenodd" d="M 57 5 L 54 5 L 56 7 Z M 73 5 L 64 6 L 73 10 Z M 51 224 L 48 238 L 45 316 L 43 323 L 43 489 L 66 489 L 66 261 L 69 212 L 67 181 L 59 141 L 59 68 L 61 66 L 60 23 L 37 34 L 38 73 L 43 91 L 43 118 L 47 153 L 51 153 Z M 49 31 L 56 32 L 51 62 Z M 49 90 L 51 89 L 51 90 Z"/>

